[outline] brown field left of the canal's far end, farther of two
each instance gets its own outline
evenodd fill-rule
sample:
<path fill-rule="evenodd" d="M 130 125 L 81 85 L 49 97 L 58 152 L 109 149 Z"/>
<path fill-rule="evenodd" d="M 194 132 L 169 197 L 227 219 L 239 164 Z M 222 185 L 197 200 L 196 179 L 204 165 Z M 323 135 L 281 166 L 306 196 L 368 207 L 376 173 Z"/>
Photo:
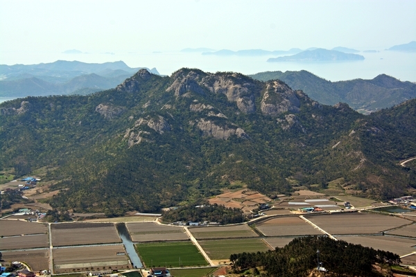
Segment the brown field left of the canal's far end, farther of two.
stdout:
<path fill-rule="evenodd" d="M 112 223 L 62 223 L 52 224 L 51 229 L 54 247 L 121 242 Z"/>

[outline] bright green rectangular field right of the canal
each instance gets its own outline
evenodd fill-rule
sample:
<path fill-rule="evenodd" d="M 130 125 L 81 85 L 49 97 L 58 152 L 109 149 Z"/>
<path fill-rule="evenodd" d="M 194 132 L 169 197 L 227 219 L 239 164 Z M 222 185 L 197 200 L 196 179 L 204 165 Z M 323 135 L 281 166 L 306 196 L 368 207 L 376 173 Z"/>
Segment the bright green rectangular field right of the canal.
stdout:
<path fill-rule="evenodd" d="M 136 244 L 146 267 L 189 267 L 208 265 L 192 242 L 153 242 Z"/>

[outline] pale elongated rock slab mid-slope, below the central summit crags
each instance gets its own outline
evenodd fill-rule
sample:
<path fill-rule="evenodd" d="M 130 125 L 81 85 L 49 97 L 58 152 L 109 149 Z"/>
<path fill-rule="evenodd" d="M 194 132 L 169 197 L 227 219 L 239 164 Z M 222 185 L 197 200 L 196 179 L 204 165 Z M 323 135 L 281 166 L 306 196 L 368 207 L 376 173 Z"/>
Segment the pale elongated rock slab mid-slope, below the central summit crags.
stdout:
<path fill-rule="evenodd" d="M 222 127 L 216 125 L 211 120 L 201 118 L 196 123 L 196 127 L 202 131 L 202 136 L 212 136 L 215 139 L 228 139 L 229 136 L 236 135 L 239 138 L 248 138 L 244 130 L 239 127 Z"/>

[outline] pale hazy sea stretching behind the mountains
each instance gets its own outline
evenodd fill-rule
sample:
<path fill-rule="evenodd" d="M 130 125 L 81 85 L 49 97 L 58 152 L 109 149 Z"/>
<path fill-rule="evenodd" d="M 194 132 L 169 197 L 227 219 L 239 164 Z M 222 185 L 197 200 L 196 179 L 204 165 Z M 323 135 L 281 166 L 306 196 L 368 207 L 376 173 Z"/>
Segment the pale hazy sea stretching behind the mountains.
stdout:
<path fill-rule="evenodd" d="M 360 52 L 365 60 L 330 62 L 267 62 L 277 56 L 218 56 L 182 51 L 137 53 L 1 53 L 0 64 L 39 64 L 56 60 L 103 63 L 123 61 L 130 67 L 156 68 L 162 75 L 171 75 L 183 67 L 215 73 L 232 71 L 254 74 L 264 71 L 306 70 L 332 82 L 357 78 L 372 79 L 387 74 L 401 81 L 416 82 L 416 53 L 380 50 L 375 53 Z M 4 99 L 0 99 L 4 101 Z"/>

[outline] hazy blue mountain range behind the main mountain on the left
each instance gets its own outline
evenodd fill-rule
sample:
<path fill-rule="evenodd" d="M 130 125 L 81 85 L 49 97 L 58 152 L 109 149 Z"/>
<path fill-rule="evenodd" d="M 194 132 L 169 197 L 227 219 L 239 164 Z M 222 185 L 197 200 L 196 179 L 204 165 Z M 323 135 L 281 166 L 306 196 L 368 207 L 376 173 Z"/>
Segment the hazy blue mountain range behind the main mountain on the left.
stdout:
<path fill-rule="evenodd" d="M 1 97 L 47 96 L 111 89 L 139 69 L 124 62 L 88 64 L 58 60 L 48 64 L 0 65 Z M 148 69 L 159 74 L 156 69 Z"/>

